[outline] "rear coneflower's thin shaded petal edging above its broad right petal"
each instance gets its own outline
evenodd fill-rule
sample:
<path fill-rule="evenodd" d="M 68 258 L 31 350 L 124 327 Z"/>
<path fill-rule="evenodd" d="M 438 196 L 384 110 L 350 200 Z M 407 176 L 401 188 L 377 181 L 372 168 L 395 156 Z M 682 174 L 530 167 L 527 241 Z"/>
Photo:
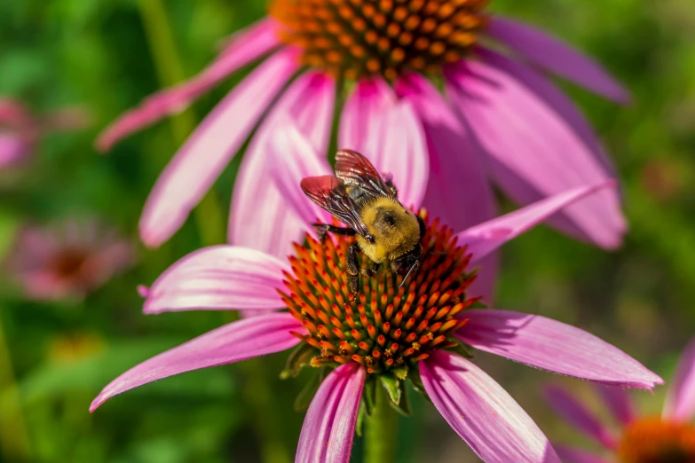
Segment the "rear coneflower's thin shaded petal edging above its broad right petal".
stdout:
<path fill-rule="evenodd" d="M 591 153 L 596 156 L 596 160 L 601 162 L 605 171 L 612 177 L 614 176 L 615 166 L 605 153 L 604 147 L 598 141 L 594 129 L 591 128 L 584 115 L 574 106 L 572 100 L 559 90 L 553 82 L 550 82 L 548 78 L 533 68 L 510 59 L 497 51 L 478 47 L 476 54 L 487 64 L 501 69 L 508 75 L 513 75 L 518 82 L 523 83 L 528 90 L 538 95 L 538 98 L 541 98 L 548 104 L 573 129 L 574 133 L 581 138 L 581 141 L 587 145 Z"/>

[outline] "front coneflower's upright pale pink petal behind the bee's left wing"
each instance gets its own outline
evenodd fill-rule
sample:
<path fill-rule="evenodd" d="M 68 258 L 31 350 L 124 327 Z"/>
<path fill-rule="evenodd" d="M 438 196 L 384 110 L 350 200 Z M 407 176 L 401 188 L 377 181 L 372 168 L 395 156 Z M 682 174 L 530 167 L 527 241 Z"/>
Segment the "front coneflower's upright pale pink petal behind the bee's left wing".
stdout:
<path fill-rule="evenodd" d="M 292 208 L 304 224 L 312 224 L 317 218 L 330 224 L 330 214 L 308 200 L 299 186 L 305 177 L 332 175 L 328 159 L 316 153 L 294 122 L 279 124 L 268 138 L 269 170 L 286 206 Z"/>

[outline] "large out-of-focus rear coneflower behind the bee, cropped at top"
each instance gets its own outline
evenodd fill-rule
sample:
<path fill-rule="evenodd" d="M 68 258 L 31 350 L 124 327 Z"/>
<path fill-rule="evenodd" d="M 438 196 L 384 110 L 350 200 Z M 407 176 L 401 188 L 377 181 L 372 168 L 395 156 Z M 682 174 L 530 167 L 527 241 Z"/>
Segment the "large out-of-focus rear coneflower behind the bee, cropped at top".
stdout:
<path fill-rule="evenodd" d="M 269 164 L 263 140 L 282 123 L 278 114 L 289 114 L 326 156 L 344 95 L 338 147 L 421 165 L 431 178 L 424 207 L 456 231 L 494 216 L 490 182 L 530 204 L 612 177 L 588 122 L 544 73 L 620 102 L 625 90 L 565 43 L 485 6 L 274 0 L 270 16 L 233 35 L 199 75 L 146 98 L 100 135 L 106 151 L 260 62 L 162 172 L 140 220 L 143 241 L 157 247 L 178 230 L 260 122 L 234 185 L 228 238 L 287 255 L 302 226 L 272 185 L 258 186 Z M 445 96 L 432 82 L 444 83 Z M 384 145 L 387 134 L 398 134 L 394 145 Z M 607 248 L 626 230 L 615 191 L 573 204 L 552 224 Z"/>

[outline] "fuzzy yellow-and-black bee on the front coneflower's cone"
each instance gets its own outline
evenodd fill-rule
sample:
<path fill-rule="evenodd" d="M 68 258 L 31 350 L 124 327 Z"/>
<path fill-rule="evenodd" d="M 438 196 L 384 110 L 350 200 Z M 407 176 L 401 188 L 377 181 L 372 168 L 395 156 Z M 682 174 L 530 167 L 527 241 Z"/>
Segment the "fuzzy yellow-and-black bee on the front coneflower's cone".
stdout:
<path fill-rule="evenodd" d="M 335 172 L 336 177 L 306 177 L 301 187 L 313 202 L 348 225 L 313 224 L 321 241 L 328 232 L 356 237 L 347 255 L 351 293 L 358 291 L 359 251 L 372 262 L 371 269 L 364 272 L 368 277 L 373 277 L 383 263 L 390 264 L 404 276 L 403 286 L 421 263 L 423 219 L 403 207 L 391 177 L 383 179 L 362 154 L 339 151 Z"/>

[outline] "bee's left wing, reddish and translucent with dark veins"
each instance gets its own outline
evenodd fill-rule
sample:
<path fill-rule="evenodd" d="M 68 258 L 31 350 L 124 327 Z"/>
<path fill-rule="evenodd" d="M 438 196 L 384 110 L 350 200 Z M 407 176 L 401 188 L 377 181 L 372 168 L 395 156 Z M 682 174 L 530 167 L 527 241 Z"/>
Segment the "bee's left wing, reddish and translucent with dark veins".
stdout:
<path fill-rule="evenodd" d="M 304 194 L 321 208 L 328 210 L 355 232 L 367 236 L 367 226 L 359 218 L 359 207 L 345 190 L 343 179 L 333 176 L 306 177 L 300 186 Z"/>

